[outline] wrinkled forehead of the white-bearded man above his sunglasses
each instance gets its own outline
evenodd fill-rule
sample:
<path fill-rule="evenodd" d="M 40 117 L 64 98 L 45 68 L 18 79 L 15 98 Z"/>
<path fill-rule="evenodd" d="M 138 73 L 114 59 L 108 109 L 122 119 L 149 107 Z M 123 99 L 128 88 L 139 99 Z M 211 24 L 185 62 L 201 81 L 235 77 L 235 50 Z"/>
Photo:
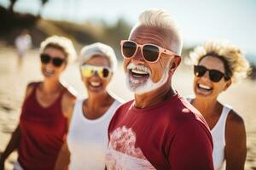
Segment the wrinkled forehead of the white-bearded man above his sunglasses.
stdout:
<path fill-rule="evenodd" d="M 177 48 L 177 38 L 172 31 L 159 27 L 137 26 L 132 29 L 129 39 L 139 44 L 153 43 L 172 51 Z"/>

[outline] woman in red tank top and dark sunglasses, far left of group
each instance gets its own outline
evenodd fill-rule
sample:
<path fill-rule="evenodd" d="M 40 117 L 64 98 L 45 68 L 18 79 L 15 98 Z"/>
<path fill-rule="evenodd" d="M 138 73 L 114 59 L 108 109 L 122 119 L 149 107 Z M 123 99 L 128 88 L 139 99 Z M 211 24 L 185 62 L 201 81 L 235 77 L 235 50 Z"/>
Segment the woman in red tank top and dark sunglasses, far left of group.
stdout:
<path fill-rule="evenodd" d="M 75 57 L 73 42 L 66 37 L 49 37 L 41 43 L 44 81 L 28 84 L 20 122 L 1 156 L 0 169 L 14 150 L 18 150 L 15 170 L 54 169 L 76 99 L 60 76 Z"/>

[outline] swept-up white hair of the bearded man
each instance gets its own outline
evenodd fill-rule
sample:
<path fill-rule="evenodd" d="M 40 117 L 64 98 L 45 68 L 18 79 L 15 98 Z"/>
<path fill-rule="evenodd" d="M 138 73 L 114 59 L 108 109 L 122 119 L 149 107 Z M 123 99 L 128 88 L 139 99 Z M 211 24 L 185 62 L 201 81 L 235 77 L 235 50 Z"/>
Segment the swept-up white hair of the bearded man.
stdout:
<path fill-rule="evenodd" d="M 133 26 L 131 33 L 137 28 L 137 26 L 150 26 L 172 31 L 173 37 L 177 39 L 176 41 L 178 43 L 178 49 L 175 52 L 177 54 L 181 54 L 181 50 L 183 48 L 183 37 L 176 20 L 172 18 L 172 15 L 166 11 L 166 9 L 149 8 L 144 10 L 140 14 L 137 24 Z"/>

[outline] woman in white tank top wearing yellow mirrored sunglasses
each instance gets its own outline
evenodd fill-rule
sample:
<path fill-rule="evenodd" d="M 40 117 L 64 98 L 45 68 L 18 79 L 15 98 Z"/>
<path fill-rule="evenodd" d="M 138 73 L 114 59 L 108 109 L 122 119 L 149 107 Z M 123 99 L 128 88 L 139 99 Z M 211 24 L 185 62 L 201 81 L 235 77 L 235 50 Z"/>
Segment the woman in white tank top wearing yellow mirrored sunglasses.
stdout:
<path fill-rule="evenodd" d="M 76 101 L 73 118 L 55 169 L 105 168 L 108 124 L 120 100 L 107 91 L 117 67 L 113 48 L 100 42 L 85 46 L 80 54 L 82 82 L 88 97 Z M 70 162 L 68 162 L 70 157 Z"/>

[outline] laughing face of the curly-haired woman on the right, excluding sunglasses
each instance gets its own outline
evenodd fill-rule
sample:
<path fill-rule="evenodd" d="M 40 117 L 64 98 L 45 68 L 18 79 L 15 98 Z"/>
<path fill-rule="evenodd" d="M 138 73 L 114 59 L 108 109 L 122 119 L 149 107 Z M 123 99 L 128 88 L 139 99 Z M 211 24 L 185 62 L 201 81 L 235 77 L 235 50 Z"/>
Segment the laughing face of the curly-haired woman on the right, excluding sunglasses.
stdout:
<path fill-rule="evenodd" d="M 205 66 L 209 70 L 225 72 L 223 61 L 214 56 L 204 57 L 198 65 Z M 202 77 L 194 78 L 195 96 L 196 98 L 217 99 L 218 94 L 226 90 L 230 84 L 231 80 L 225 81 L 224 77 L 219 82 L 212 82 L 209 71 L 207 71 Z"/>

